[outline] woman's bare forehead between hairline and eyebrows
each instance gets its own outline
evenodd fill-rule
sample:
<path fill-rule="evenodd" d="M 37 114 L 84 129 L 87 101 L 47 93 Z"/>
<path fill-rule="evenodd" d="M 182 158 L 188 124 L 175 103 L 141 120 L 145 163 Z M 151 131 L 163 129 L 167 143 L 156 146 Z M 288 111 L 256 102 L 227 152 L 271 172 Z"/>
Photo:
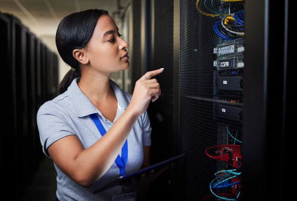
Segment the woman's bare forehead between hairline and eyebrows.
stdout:
<path fill-rule="evenodd" d="M 113 18 L 111 18 L 109 15 L 102 15 L 97 21 L 97 25 L 93 34 L 97 36 L 103 36 L 105 32 L 110 30 L 115 30 L 117 32 L 117 29 L 118 27 L 113 21 Z"/>

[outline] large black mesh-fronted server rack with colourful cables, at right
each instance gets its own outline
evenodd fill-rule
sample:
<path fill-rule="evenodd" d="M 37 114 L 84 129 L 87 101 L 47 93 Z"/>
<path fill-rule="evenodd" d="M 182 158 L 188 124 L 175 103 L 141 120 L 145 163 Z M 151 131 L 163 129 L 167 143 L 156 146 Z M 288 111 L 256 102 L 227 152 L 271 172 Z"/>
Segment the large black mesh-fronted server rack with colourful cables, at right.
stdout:
<path fill-rule="evenodd" d="M 290 3 L 180 1 L 183 200 L 288 200 Z"/>

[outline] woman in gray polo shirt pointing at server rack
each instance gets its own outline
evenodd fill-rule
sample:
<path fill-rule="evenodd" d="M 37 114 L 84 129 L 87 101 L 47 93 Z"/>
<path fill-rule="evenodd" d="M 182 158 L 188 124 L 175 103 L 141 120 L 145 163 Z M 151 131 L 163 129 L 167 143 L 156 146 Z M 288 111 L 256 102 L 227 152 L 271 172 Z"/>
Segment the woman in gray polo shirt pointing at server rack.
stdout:
<path fill-rule="evenodd" d="M 119 175 L 149 166 L 151 126 L 146 112 L 161 93 L 149 71 L 133 95 L 110 80 L 129 67 L 128 44 L 105 10 L 85 10 L 61 20 L 56 46 L 71 66 L 59 85 L 60 95 L 37 113 L 43 152 L 57 171 L 57 199 L 112 200 L 117 186 L 98 194 Z M 105 133 L 106 132 L 106 133 Z"/>

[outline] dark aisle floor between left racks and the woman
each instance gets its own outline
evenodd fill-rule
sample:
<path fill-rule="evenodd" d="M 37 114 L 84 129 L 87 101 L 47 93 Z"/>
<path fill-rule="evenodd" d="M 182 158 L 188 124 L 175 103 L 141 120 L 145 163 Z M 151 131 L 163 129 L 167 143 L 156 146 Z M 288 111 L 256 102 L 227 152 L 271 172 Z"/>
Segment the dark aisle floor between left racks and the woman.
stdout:
<path fill-rule="evenodd" d="M 57 189 L 56 176 L 53 161 L 44 157 L 21 201 L 54 201 Z"/>

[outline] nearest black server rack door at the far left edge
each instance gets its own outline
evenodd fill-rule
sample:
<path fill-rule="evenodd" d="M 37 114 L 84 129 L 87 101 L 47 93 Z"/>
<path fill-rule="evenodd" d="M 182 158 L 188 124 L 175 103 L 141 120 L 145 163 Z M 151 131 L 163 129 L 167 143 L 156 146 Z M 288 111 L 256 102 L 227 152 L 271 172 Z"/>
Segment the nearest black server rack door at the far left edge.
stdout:
<path fill-rule="evenodd" d="M 11 30 L 11 17 L 0 13 L 0 37 L 2 39 L 3 51 L 1 51 L 1 64 L 4 66 L 3 74 L 5 87 L 3 87 L 6 100 L 6 110 L 4 116 L 6 116 L 7 122 L 5 127 L 9 130 L 8 134 L 3 135 L 2 144 L 4 150 L 10 149 L 10 154 L 3 154 L 3 161 L 9 164 L 9 168 L 6 169 L 7 174 L 10 175 L 10 179 L 6 181 L 7 186 L 18 187 L 19 183 L 19 152 L 17 144 L 17 130 L 16 130 L 16 97 L 15 97 L 15 64 L 12 61 L 12 30 Z M 9 144 L 9 147 L 7 147 Z"/>

